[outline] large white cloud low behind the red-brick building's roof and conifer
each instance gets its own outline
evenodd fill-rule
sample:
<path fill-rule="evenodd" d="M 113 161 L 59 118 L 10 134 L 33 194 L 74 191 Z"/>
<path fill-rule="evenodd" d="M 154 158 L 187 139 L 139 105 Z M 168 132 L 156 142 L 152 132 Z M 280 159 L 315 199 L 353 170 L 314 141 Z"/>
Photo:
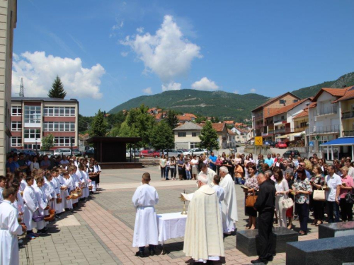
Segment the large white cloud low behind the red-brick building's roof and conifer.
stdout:
<path fill-rule="evenodd" d="M 101 77 L 105 69 L 101 64 L 84 68 L 80 58 L 61 58 L 45 52 L 24 52 L 13 57 L 13 95 L 18 95 L 21 78 L 25 95 L 47 97 L 56 76 L 62 80 L 67 98 L 102 98 Z"/>

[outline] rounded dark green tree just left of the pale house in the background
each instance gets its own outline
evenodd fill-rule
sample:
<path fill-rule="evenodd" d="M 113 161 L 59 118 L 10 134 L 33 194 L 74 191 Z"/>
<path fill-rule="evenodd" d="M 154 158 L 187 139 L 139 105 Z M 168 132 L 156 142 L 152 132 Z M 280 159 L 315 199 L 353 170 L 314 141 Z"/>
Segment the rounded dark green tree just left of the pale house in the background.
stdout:
<path fill-rule="evenodd" d="M 155 150 L 171 149 L 174 147 L 174 135 L 171 127 L 164 120 L 152 129 L 150 143 Z"/>

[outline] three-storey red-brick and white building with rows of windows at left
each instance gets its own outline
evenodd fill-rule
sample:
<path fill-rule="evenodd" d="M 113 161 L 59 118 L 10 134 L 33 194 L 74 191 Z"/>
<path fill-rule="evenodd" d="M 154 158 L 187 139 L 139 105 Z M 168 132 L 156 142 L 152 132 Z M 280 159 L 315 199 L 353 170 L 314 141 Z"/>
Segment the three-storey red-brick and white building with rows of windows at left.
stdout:
<path fill-rule="evenodd" d="M 42 137 L 52 134 L 57 148 L 77 148 L 79 102 L 59 98 L 11 100 L 11 148 L 40 150 Z"/>

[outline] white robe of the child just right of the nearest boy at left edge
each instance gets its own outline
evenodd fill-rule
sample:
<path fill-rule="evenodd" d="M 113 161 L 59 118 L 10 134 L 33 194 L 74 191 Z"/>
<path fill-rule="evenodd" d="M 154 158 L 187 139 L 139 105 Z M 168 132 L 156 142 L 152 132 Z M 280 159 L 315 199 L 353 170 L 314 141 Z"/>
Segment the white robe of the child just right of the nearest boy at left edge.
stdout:
<path fill-rule="evenodd" d="M 25 201 L 25 211 L 23 213 L 23 219 L 27 230 L 32 230 L 36 227 L 35 222 L 32 220 L 33 213 L 38 209 L 38 201 L 35 196 L 35 189 L 30 186 L 26 186 L 23 191 L 23 201 Z"/>

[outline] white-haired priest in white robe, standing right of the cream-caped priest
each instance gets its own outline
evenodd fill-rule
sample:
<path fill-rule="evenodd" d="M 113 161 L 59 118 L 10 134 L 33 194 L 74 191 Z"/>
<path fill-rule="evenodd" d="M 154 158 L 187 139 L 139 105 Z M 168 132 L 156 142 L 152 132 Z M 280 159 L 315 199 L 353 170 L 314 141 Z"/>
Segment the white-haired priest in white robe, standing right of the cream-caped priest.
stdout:
<path fill-rule="evenodd" d="M 222 223 L 224 234 L 231 234 L 235 230 L 235 222 L 239 220 L 237 216 L 236 189 L 234 180 L 229 175 L 227 167 L 220 167 L 219 175 L 222 177 L 220 187 L 224 189 L 224 201 L 222 201 Z"/>

